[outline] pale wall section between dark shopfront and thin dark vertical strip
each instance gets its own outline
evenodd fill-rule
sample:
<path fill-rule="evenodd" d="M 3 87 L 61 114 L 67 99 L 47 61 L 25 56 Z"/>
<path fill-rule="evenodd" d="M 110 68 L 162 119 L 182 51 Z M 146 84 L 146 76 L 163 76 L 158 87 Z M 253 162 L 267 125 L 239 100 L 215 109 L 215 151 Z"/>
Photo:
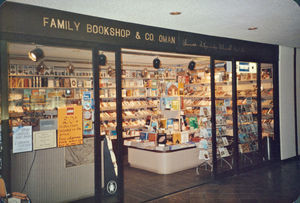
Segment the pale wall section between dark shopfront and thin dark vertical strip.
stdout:
<path fill-rule="evenodd" d="M 279 119 L 281 159 L 296 156 L 294 48 L 279 47 Z"/>

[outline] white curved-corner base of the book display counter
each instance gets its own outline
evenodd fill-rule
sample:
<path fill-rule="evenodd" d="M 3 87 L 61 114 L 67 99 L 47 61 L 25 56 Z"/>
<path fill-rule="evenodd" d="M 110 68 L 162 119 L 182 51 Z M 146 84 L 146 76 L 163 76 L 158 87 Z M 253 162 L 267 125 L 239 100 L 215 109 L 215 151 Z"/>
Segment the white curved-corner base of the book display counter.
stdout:
<path fill-rule="evenodd" d="M 199 160 L 199 148 L 189 147 L 172 151 L 157 151 L 128 147 L 128 162 L 131 167 L 158 174 L 171 174 L 196 168 Z"/>

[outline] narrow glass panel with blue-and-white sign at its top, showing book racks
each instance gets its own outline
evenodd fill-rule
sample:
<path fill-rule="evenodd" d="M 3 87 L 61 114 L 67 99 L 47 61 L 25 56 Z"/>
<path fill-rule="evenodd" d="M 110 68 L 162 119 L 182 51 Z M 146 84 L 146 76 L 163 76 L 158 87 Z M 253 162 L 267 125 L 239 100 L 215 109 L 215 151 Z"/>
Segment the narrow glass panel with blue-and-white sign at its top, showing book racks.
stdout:
<path fill-rule="evenodd" d="M 240 168 L 259 162 L 257 63 L 237 62 L 238 148 Z"/>

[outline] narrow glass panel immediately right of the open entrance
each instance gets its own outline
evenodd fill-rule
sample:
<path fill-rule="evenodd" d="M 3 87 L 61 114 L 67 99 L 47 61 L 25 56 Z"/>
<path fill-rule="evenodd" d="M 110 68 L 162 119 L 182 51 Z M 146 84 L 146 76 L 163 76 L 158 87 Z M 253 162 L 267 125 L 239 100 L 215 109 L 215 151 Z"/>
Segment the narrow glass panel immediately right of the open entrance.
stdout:
<path fill-rule="evenodd" d="M 216 143 L 218 173 L 233 168 L 232 62 L 215 61 Z"/>

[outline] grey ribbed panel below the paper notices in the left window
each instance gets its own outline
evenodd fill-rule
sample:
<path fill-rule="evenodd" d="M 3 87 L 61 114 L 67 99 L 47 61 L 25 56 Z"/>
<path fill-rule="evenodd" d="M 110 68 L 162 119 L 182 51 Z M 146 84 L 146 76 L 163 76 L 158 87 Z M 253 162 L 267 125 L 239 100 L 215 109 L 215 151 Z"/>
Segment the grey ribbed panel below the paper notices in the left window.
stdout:
<path fill-rule="evenodd" d="M 21 192 L 33 156 L 33 152 L 12 155 L 12 191 Z M 64 148 L 38 150 L 24 193 L 36 203 L 93 196 L 94 164 L 66 168 Z"/>

